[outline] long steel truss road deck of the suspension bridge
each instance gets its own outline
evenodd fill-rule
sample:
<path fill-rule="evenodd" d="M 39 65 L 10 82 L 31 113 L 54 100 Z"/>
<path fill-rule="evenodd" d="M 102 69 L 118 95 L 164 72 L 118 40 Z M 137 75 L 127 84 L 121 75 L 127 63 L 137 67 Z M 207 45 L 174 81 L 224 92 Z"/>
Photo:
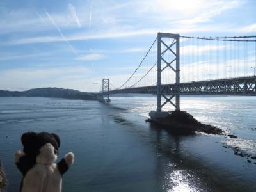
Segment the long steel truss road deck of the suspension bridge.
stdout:
<path fill-rule="evenodd" d="M 157 86 L 143 86 L 109 90 L 98 95 L 118 93 L 157 93 Z M 162 84 L 163 95 L 254 95 L 256 96 L 256 76 L 192 81 L 180 84 Z"/>

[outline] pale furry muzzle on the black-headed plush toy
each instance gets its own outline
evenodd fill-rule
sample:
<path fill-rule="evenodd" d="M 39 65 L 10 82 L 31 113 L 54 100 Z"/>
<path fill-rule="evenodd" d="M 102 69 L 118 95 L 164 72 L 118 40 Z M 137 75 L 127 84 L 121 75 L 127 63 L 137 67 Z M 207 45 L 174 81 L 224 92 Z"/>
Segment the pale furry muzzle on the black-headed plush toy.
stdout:
<path fill-rule="evenodd" d="M 57 155 L 54 154 L 54 147 L 51 143 L 46 143 L 40 148 L 40 154 L 36 157 L 36 163 L 52 164 L 57 160 Z"/>

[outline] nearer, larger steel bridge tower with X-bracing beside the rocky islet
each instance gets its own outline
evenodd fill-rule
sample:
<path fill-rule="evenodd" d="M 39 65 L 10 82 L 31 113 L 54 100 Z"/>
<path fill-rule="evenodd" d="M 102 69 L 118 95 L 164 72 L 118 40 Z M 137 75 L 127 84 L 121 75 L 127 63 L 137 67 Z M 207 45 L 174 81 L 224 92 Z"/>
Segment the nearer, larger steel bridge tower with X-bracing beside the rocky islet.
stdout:
<path fill-rule="evenodd" d="M 171 44 L 168 45 L 166 40 L 172 40 Z M 161 49 L 161 48 L 164 49 Z M 164 50 L 164 51 L 162 51 Z M 172 54 L 173 60 L 166 61 L 163 58 L 165 53 Z M 164 67 L 162 68 L 162 61 Z M 161 86 L 161 73 L 170 67 L 173 74 L 175 75 L 176 90 L 172 95 L 164 93 L 164 89 Z M 157 109 L 156 111 L 150 111 L 149 115 L 151 118 L 164 118 L 168 116 L 168 111 L 162 111 L 161 109 L 168 102 L 175 107 L 175 110 L 180 110 L 180 95 L 179 95 L 179 83 L 180 83 L 180 35 L 172 33 L 157 33 Z M 161 104 L 161 97 L 164 97 L 165 102 Z M 172 102 L 173 97 L 175 97 L 175 104 Z"/>

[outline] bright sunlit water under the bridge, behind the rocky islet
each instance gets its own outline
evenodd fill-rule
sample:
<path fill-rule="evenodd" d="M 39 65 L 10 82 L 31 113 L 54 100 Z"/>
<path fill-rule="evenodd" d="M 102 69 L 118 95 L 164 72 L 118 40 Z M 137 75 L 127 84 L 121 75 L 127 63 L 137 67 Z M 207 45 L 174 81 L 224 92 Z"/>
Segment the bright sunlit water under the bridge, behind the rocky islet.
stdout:
<path fill-rule="evenodd" d="M 115 100 L 115 97 L 114 97 Z M 120 101 L 119 99 L 117 99 Z M 240 147 L 246 152 L 256 154 L 256 131 L 254 116 L 256 115 L 255 97 L 181 97 L 181 110 L 191 113 L 196 120 L 204 124 L 220 127 L 226 134 L 236 134 L 239 140 L 224 138 L 222 143 Z M 163 101 L 162 101 L 163 102 Z M 115 103 L 115 101 L 113 101 Z M 128 97 L 122 99 L 123 104 L 134 114 L 148 118 L 148 112 L 156 110 L 156 97 Z M 172 111 L 166 105 L 163 111 Z"/>

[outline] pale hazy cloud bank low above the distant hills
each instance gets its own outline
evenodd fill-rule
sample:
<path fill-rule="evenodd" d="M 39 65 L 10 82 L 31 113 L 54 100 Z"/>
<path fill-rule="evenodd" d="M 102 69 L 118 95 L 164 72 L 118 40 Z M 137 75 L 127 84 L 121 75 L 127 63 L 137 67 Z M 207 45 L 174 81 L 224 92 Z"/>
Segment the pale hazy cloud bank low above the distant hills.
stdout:
<path fill-rule="evenodd" d="M 19 90 L 20 87 L 38 88 L 56 86 L 84 90 L 84 84 L 92 84 L 88 80 L 88 76 L 91 73 L 89 68 L 79 65 L 72 67 L 13 68 L 1 70 L 0 89 Z M 88 90 L 90 89 L 88 87 Z"/>

